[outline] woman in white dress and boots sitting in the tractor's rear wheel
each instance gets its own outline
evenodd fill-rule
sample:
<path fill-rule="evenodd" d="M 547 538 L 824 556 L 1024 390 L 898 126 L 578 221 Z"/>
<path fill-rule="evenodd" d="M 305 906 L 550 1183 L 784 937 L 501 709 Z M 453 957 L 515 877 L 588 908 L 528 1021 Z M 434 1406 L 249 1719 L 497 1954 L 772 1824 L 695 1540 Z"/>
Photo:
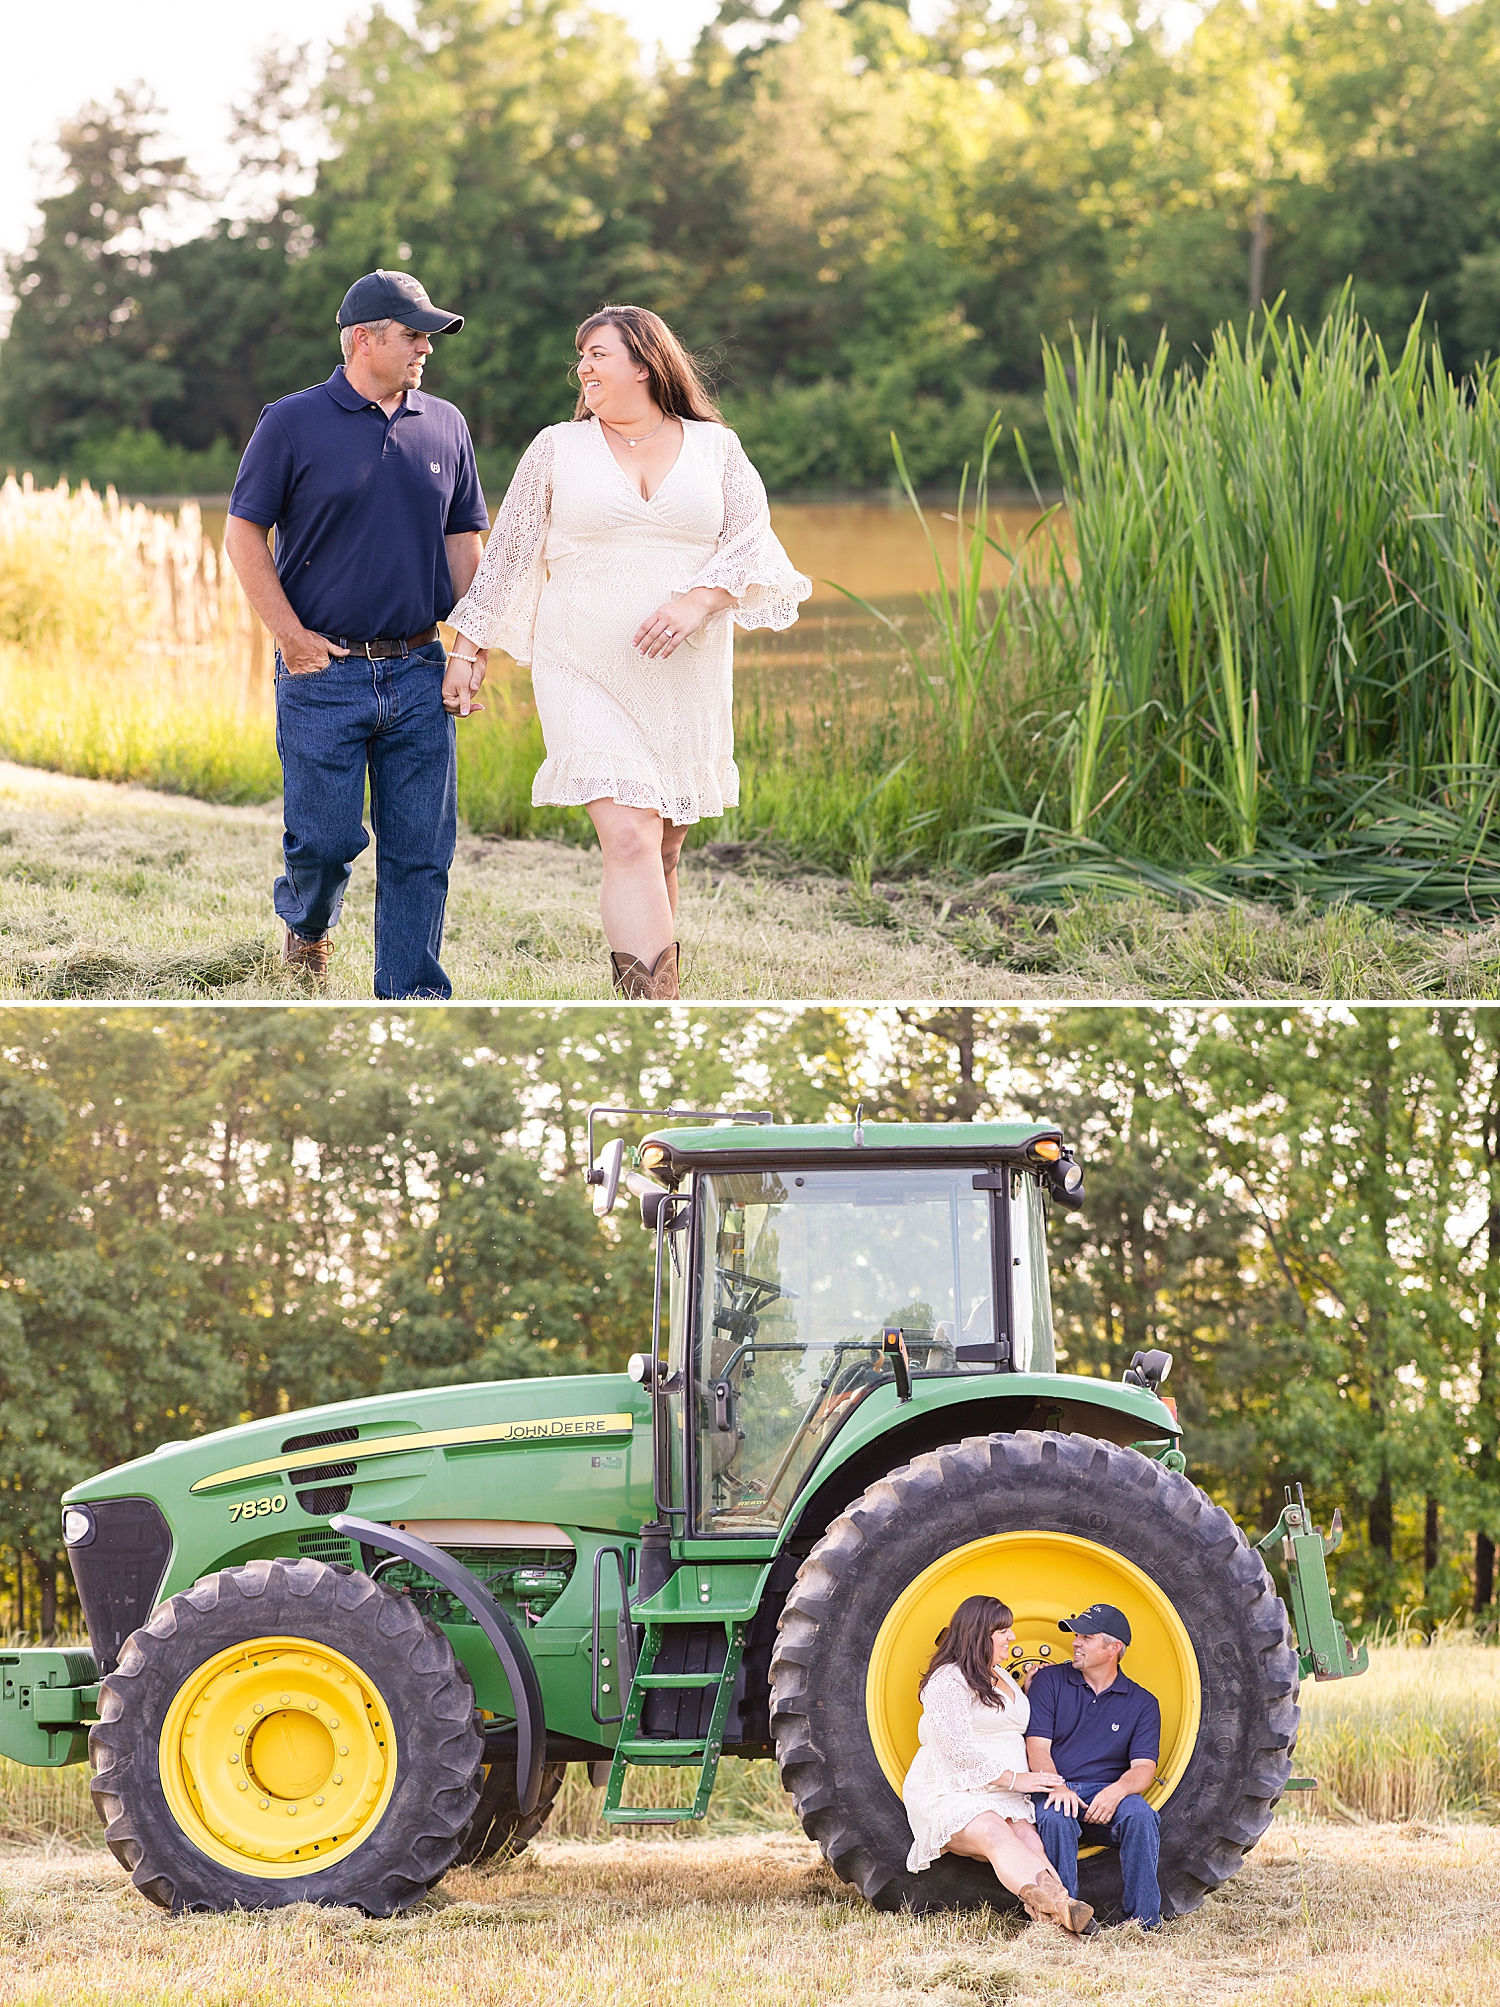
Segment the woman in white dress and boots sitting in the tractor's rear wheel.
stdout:
<path fill-rule="evenodd" d="M 906 1865 L 920 1873 L 944 1852 L 988 1860 L 1028 1917 L 1082 1933 L 1094 1913 L 1058 1881 L 1026 1796 L 1056 1790 L 1060 1778 L 1026 1768 L 1030 1702 L 1004 1668 L 1014 1636 L 1010 1610 L 994 1596 L 968 1596 L 938 1636 L 918 1688 L 922 1748 L 902 1786 L 912 1822 Z"/>

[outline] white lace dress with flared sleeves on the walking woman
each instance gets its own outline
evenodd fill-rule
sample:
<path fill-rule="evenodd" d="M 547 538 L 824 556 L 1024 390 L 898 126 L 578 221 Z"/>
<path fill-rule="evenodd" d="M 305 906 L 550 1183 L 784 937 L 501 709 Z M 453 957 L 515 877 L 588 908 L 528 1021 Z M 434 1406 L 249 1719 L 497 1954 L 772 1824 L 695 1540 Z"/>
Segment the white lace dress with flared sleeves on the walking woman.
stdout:
<path fill-rule="evenodd" d="M 647 662 L 631 636 L 695 586 L 723 586 L 737 604 Z M 606 797 L 697 823 L 739 801 L 733 622 L 791 626 L 811 590 L 727 425 L 683 419 L 677 464 L 647 502 L 588 417 L 528 446 L 448 618 L 480 648 L 530 662 L 546 741 L 536 807 Z"/>

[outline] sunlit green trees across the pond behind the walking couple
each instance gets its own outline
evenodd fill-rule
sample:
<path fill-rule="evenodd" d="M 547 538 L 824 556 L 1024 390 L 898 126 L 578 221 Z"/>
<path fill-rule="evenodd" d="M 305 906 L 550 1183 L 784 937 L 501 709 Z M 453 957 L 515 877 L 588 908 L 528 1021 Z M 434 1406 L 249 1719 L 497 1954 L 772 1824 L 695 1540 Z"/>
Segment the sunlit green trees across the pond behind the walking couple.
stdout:
<path fill-rule="evenodd" d="M 1281 293 L 1315 323 L 1353 277 L 1388 343 L 1428 299 L 1452 363 L 1500 345 L 1500 0 L 1215 0 L 1177 40 L 1161 12 L 723 0 L 657 70 L 604 6 L 376 6 L 315 86 L 267 56 L 227 213 L 171 245 L 163 205 L 203 191 L 120 90 L 66 122 L 10 261 L 0 446 L 221 486 L 376 265 L 470 315 L 430 381 L 490 480 L 570 409 L 570 329 L 604 299 L 709 359 L 783 492 L 886 482 L 892 427 L 950 480 L 996 401 L 1044 462 L 1040 343 L 1070 323 L 1191 359 Z"/>

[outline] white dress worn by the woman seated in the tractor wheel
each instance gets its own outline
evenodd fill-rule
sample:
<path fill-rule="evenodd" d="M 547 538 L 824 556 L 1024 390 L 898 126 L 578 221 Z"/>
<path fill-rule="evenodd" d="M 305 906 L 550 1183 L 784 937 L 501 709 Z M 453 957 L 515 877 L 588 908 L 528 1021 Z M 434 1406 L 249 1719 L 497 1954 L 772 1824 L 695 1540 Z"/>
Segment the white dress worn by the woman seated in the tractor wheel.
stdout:
<path fill-rule="evenodd" d="M 932 1867 L 948 1840 L 980 1812 L 1036 1822 L 1020 1790 L 994 1790 L 994 1778 L 1026 1768 L 1026 1724 L 1032 1704 L 1010 1678 L 996 1674 L 1002 1702 L 986 1708 L 958 1666 L 940 1666 L 922 1694 L 922 1720 L 902 1802 L 912 1822 L 908 1869 Z"/>

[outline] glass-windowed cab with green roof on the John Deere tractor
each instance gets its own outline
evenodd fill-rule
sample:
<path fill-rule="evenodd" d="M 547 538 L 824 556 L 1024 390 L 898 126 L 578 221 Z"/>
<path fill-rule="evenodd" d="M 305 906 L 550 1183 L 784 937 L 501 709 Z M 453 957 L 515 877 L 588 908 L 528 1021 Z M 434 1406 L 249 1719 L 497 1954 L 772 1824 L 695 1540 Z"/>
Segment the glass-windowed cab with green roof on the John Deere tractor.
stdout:
<path fill-rule="evenodd" d="M 637 1164 L 667 1349 L 633 1373 L 683 1531 L 775 1535 L 876 1395 L 1056 1373 L 1046 1214 L 1082 1202 L 1056 1128 L 741 1118 L 657 1130 Z"/>

